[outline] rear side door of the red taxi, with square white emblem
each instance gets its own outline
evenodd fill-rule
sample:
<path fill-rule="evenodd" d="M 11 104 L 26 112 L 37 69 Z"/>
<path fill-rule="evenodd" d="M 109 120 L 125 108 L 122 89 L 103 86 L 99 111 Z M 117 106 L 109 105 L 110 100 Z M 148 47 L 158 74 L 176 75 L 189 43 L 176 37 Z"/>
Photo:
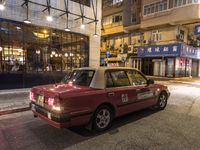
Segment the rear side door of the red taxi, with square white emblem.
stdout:
<path fill-rule="evenodd" d="M 111 70 L 105 74 L 106 93 L 108 99 L 115 104 L 117 116 L 134 111 L 133 104 L 137 101 L 137 91 L 132 86 L 126 70 Z"/>

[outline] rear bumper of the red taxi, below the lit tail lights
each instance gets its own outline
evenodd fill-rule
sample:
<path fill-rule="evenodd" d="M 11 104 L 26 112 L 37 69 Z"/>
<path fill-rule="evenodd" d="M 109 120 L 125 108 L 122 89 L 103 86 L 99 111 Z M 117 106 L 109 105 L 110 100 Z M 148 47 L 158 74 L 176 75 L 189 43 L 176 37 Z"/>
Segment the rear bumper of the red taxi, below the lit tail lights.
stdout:
<path fill-rule="evenodd" d="M 30 108 L 35 116 L 38 116 L 42 120 L 48 122 L 50 125 L 56 128 L 70 127 L 70 118 L 66 113 L 54 113 L 46 110 L 45 108 L 38 106 L 34 102 L 30 103 Z"/>

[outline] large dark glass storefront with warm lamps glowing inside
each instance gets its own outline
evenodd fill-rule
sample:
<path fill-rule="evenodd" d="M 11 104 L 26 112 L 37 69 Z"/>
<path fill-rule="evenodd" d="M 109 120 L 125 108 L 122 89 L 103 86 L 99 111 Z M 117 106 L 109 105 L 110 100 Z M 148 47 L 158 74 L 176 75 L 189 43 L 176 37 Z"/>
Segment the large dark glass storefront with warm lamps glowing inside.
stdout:
<path fill-rule="evenodd" d="M 1 19 L 0 73 L 68 71 L 89 66 L 89 37 Z"/>

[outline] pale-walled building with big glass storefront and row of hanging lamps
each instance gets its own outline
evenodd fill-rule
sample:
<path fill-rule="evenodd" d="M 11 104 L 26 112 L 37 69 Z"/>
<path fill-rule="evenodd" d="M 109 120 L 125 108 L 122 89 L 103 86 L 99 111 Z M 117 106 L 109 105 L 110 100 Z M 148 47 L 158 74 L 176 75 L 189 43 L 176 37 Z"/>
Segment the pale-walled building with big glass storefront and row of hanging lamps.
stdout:
<path fill-rule="evenodd" d="M 99 66 L 101 1 L 3 0 L 0 5 L 1 78 Z"/>

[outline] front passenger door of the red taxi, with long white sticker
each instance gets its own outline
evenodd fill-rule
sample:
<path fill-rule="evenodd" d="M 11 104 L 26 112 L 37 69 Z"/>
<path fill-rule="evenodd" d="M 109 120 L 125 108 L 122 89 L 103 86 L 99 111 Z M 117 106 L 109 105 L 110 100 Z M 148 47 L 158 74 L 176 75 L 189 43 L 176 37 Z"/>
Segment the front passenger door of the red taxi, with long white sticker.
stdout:
<path fill-rule="evenodd" d="M 127 71 L 129 80 L 136 89 L 136 101 L 133 105 L 133 110 L 140 110 L 156 103 L 156 97 L 154 95 L 151 86 L 147 84 L 146 77 L 137 70 Z"/>

